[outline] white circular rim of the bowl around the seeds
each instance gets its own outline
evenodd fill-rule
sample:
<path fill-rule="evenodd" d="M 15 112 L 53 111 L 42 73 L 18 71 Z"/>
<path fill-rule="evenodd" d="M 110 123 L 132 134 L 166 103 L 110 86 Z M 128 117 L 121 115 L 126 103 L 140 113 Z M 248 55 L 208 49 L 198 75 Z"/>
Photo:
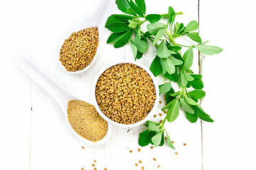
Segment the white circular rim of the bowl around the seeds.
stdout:
<path fill-rule="evenodd" d="M 154 102 L 154 106 L 151 109 L 151 111 L 149 111 L 148 115 L 146 115 L 146 118 L 144 118 L 143 120 L 140 120 L 137 123 L 129 124 L 129 125 L 124 125 L 122 123 L 117 123 L 117 122 L 114 122 L 114 120 L 111 120 L 110 118 L 107 118 L 107 116 L 104 113 L 102 113 L 102 111 L 100 110 L 100 107 L 97 104 L 96 95 L 95 95 L 96 84 L 97 84 L 98 79 L 100 78 L 100 75 L 103 72 L 105 72 L 107 69 L 109 69 L 110 67 L 113 67 L 114 65 L 117 65 L 117 64 L 124 64 L 124 63 L 134 64 L 134 65 L 137 65 L 138 67 L 141 67 L 142 69 L 144 69 L 149 74 L 151 79 L 153 80 L 153 83 L 154 83 L 154 86 L 155 86 L 155 89 L 156 89 L 156 99 L 155 99 L 155 102 Z M 97 112 L 108 123 L 111 123 L 112 125 L 117 125 L 117 126 L 122 127 L 122 128 L 134 128 L 134 127 L 137 127 L 137 126 L 142 125 L 143 123 L 145 123 L 155 113 L 156 108 L 157 108 L 158 103 L 159 103 L 159 85 L 158 85 L 158 83 L 156 81 L 156 77 L 154 77 L 154 74 L 146 66 L 144 66 L 143 64 L 141 64 L 139 62 L 136 62 L 136 61 L 126 61 L 126 60 L 122 60 L 122 61 L 119 61 L 119 62 L 112 62 L 111 64 L 107 64 L 105 67 L 100 69 L 100 71 L 95 76 L 94 81 L 92 81 L 92 103 L 94 104 Z"/>

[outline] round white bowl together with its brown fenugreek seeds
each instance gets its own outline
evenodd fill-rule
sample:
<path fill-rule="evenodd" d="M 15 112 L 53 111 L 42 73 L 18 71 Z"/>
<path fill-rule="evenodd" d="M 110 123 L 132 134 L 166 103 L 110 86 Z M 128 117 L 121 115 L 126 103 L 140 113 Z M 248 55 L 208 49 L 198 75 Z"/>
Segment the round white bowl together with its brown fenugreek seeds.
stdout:
<path fill-rule="evenodd" d="M 132 128 L 151 118 L 159 103 L 154 75 L 137 62 L 111 64 L 93 82 L 94 103 L 107 122 Z"/>

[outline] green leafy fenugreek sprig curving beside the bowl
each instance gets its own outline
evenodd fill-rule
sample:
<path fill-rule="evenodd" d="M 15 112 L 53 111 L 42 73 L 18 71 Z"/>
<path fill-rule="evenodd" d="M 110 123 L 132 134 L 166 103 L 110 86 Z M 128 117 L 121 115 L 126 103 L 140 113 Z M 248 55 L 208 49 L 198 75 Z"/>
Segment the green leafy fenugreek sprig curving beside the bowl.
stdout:
<path fill-rule="evenodd" d="M 139 60 L 144 52 L 152 46 L 156 47 L 156 57 L 151 63 L 150 70 L 155 77 L 160 74 L 164 81 L 169 81 L 159 86 L 160 94 L 165 94 L 166 117 L 160 123 L 146 121 L 146 128 L 139 134 L 139 145 L 164 145 L 164 136 L 167 137 L 167 145 L 174 149 L 171 139 L 164 129 L 166 120 L 176 120 L 179 110 L 184 111 L 186 118 L 191 123 L 196 123 L 198 118 L 213 122 L 208 114 L 199 106 L 198 100 L 206 96 L 203 91 L 202 76 L 194 74 L 190 69 L 193 64 L 193 50 L 197 49 L 205 55 L 215 55 L 222 52 L 220 47 L 206 45 L 196 30 L 198 22 L 191 21 L 187 26 L 183 23 L 174 22 L 176 16 L 183 14 L 175 12 L 169 6 L 168 13 L 146 15 L 146 4 L 144 0 L 116 0 L 117 8 L 126 14 L 113 14 L 107 19 L 105 28 L 112 31 L 107 43 L 114 47 L 123 47 L 129 42 L 132 47 L 134 60 Z M 162 23 L 160 21 L 164 21 Z M 142 31 L 142 24 L 147 24 L 146 31 Z M 135 35 L 132 38 L 132 35 Z M 187 36 L 195 42 L 194 45 L 181 45 L 175 39 Z M 151 42 L 151 45 L 149 45 Z M 181 48 L 188 50 L 181 54 Z M 174 91 L 171 82 L 178 84 L 179 91 Z M 188 88 L 193 89 L 188 92 Z"/>

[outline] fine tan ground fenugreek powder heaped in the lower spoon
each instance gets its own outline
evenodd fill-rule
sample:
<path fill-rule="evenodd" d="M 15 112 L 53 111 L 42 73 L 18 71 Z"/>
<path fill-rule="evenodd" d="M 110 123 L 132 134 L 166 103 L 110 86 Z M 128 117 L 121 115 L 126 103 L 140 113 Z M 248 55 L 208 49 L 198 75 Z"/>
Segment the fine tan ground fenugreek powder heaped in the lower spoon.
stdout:
<path fill-rule="evenodd" d="M 68 121 L 73 130 L 86 140 L 97 142 L 107 135 L 107 121 L 85 101 L 68 101 Z"/>

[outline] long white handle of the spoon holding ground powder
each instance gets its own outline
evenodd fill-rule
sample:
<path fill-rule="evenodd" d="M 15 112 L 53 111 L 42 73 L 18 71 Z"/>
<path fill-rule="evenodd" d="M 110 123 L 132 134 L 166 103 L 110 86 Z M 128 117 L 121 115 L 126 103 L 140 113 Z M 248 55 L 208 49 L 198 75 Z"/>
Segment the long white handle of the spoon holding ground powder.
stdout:
<path fill-rule="evenodd" d="M 33 81 L 36 81 L 44 90 L 50 94 L 55 101 L 58 102 L 60 108 L 66 112 L 68 100 L 75 99 L 68 91 L 65 91 L 62 86 L 59 86 L 53 79 L 50 79 L 41 69 L 36 67 L 31 60 L 26 57 L 18 57 L 16 60 L 18 67 L 28 75 Z"/>

